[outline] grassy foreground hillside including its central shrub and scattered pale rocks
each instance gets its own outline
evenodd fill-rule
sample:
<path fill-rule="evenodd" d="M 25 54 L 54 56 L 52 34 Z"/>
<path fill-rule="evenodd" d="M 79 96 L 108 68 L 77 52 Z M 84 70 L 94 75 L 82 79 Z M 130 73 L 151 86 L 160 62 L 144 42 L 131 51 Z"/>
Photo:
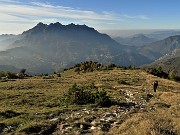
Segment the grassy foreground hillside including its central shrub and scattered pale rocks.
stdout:
<path fill-rule="evenodd" d="M 0 82 L 0 134 L 180 134 L 179 83 L 139 69 L 75 69 Z"/>

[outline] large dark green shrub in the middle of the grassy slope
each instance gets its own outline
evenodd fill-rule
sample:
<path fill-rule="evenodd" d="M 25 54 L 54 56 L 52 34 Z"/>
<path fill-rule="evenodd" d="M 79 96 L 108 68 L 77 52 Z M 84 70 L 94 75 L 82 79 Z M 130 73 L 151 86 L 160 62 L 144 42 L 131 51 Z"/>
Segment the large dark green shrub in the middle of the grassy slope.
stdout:
<path fill-rule="evenodd" d="M 80 87 L 74 84 L 66 95 L 70 104 L 85 105 L 96 104 L 101 107 L 109 107 L 111 100 L 104 90 L 99 91 L 92 83 L 90 86 Z"/>

